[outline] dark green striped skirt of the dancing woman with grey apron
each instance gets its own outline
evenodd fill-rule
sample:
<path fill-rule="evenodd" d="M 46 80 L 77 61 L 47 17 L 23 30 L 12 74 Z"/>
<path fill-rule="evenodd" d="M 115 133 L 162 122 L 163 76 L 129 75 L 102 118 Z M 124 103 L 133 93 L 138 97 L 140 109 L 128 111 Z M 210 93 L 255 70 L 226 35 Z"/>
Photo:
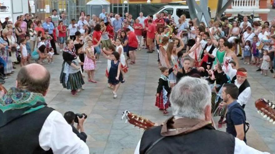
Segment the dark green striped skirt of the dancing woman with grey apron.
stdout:
<path fill-rule="evenodd" d="M 66 82 L 66 73 L 63 73 L 63 70 L 64 70 L 64 63 L 62 65 L 62 71 L 59 78 L 63 88 L 67 88 L 71 90 L 77 90 L 82 88 L 82 85 L 84 84 L 84 80 L 83 80 L 81 71 L 78 71 L 76 73 L 70 73 L 68 76 L 68 80 Z"/>

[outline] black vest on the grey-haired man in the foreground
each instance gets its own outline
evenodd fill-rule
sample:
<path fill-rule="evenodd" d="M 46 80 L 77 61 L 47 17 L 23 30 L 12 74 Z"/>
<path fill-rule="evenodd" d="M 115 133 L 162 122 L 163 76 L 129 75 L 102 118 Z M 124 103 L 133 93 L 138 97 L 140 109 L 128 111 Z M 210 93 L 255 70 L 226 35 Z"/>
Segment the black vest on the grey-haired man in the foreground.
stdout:
<path fill-rule="evenodd" d="M 162 126 L 153 127 L 143 133 L 139 153 L 145 154 L 148 148 L 159 138 Z M 233 154 L 235 138 L 228 133 L 215 130 L 207 125 L 192 133 L 167 136 L 155 144 L 147 154 Z"/>

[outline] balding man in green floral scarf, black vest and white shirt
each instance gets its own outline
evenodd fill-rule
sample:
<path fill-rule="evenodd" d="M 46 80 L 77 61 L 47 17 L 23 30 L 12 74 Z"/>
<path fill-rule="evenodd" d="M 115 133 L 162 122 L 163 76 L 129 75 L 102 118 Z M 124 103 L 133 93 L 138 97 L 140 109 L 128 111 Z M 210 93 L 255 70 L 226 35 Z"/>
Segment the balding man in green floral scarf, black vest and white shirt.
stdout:
<path fill-rule="evenodd" d="M 2 90 L 0 153 L 89 153 L 62 114 L 47 107 L 49 84 L 47 69 L 29 64 L 18 72 L 16 87 Z"/>

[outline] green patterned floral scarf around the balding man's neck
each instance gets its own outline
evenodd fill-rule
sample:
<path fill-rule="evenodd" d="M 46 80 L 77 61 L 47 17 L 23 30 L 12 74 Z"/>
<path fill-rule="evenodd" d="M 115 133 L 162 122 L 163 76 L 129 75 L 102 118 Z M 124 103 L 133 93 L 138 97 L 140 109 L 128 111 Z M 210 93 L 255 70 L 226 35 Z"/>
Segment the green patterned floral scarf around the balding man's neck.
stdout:
<path fill-rule="evenodd" d="M 47 104 L 42 94 L 11 87 L 8 93 L 0 98 L 0 127 L 45 106 Z"/>

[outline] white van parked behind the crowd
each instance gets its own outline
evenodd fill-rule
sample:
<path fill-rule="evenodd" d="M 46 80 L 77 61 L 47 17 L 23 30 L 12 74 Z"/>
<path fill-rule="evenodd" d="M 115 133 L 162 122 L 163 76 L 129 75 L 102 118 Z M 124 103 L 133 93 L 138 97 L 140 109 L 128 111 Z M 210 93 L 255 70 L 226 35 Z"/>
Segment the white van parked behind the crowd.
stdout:
<path fill-rule="evenodd" d="M 157 13 L 153 15 L 153 20 L 157 19 L 156 14 L 160 14 L 164 11 L 168 12 L 168 14 L 171 14 L 172 18 L 174 18 L 176 23 L 178 23 L 178 19 L 183 14 L 186 16 L 187 22 L 190 20 L 188 5 L 165 5 L 164 7 L 161 7 Z"/>

